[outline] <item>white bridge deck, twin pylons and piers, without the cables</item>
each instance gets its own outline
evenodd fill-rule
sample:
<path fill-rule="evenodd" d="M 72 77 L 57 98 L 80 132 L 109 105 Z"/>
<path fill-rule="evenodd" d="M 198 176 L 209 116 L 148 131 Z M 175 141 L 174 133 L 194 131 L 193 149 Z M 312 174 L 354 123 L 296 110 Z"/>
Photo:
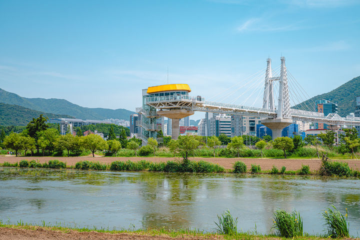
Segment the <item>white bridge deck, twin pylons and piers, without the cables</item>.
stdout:
<path fill-rule="evenodd" d="M 274 104 L 274 81 L 278 81 L 277 109 Z M 205 101 L 203 97 L 192 97 L 187 94 L 150 94 L 145 97 L 145 103 L 158 109 L 157 114 L 177 119 L 177 121 L 175 120 L 172 123 L 173 138 L 177 138 L 178 136 L 178 119 L 193 114 L 193 111 L 240 114 L 267 118 L 261 120 L 261 123 L 272 129 L 274 138 L 281 136 L 282 128 L 291 124 L 292 120 L 322 122 L 329 125 L 360 125 L 360 117 L 341 117 L 337 113 L 330 113 L 324 116 L 324 114 L 320 112 L 290 108 L 287 70 L 284 57 L 281 57 L 279 76 L 272 76 L 271 59 L 267 59 L 263 104 L 261 108 Z"/>

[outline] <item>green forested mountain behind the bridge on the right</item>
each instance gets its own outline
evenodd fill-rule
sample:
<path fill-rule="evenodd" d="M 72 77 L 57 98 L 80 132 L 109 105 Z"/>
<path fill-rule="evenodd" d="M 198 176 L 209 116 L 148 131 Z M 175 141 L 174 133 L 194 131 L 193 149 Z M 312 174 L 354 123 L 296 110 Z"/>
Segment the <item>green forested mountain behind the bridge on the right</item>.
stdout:
<path fill-rule="evenodd" d="M 352 78 L 332 91 L 311 97 L 293 106 L 293 108 L 308 110 L 308 107 L 311 110 L 315 110 L 315 100 L 327 99 L 337 103 L 338 114 L 340 116 L 346 116 L 355 110 L 355 96 L 360 96 L 360 76 Z"/>

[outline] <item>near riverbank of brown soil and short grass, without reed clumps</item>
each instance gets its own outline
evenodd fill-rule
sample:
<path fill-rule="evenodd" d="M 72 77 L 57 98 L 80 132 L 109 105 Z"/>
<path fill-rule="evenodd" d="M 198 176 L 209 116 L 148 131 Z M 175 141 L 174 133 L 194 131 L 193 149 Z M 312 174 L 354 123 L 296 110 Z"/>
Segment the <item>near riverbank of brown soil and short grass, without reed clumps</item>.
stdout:
<path fill-rule="evenodd" d="M 33 225 L 23 222 L 18 222 L 17 224 L 3 224 L 0 223 L 0 232 L 2 236 L 3 232 L 8 232 L 10 234 L 15 233 L 16 229 L 21 231 L 16 231 L 16 235 L 20 237 L 31 236 L 34 239 L 293 239 L 292 237 L 280 237 L 274 234 L 259 234 L 256 231 L 249 232 L 237 232 L 232 235 L 219 234 L 217 232 L 204 232 L 201 230 L 191 230 L 191 229 L 178 229 L 178 230 L 168 230 L 165 228 L 158 229 L 106 229 L 106 228 L 96 228 L 96 227 L 66 227 L 55 225 L 51 226 L 49 224 L 42 225 Z M 89 236 L 91 234 L 91 236 Z M 62 238 L 60 238 L 62 237 Z M 296 239 L 300 240 L 317 240 L 317 239 L 328 239 L 324 235 L 309 235 L 305 234 L 304 236 L 297 236 Z M 6 239 L 6 238 L 3 238 Z M 10 238 L 8 238 L 10 239 Z M 359 239 L 359 238 L 336 238 L 336 239 Z"/>

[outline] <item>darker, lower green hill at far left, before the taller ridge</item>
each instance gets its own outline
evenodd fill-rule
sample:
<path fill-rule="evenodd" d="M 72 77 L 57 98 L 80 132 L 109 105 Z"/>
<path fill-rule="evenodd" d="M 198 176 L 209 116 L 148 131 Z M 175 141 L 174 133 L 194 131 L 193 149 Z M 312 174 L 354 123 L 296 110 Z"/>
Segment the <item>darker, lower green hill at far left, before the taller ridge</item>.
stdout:
<path fill-rule="evenodd" d="M 33 117 L 36 118 L 40 114 L 43 114 L 48 118 L 72 117 L 69 115 L 58 115 L 42 111 L 36 111 L 26 107 L 0 102 L 0 125 L 25 126 L 29 121 L 32 120 Z"/>

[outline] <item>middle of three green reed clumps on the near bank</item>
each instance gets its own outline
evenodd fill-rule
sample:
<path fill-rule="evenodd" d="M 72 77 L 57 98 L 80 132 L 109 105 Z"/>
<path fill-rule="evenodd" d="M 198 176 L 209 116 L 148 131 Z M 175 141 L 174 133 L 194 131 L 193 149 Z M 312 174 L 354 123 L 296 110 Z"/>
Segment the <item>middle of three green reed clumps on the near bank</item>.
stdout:
<path fill-rule="evenodd" d="M 302 236 L 302 218 L 300 213 L 277 210 L 273 213 L 273 225 L 278 234 L 283 237 Z"/>

